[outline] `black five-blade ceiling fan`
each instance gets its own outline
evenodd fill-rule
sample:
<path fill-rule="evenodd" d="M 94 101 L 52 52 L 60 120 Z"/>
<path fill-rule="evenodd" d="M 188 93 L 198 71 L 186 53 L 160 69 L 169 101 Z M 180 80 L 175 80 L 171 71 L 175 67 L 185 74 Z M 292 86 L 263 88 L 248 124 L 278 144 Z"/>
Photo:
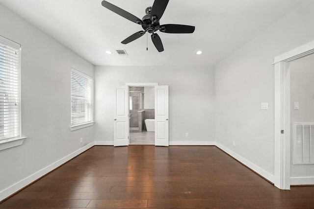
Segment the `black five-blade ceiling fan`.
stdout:
<path fill-rule="evenodd" d="M 157 33 L 157 30 L 163 33 L 193 33 L 195 30 L 195 26 L 183 25 L 183 24 L 163 24 L 160 25 L 159 20 L 162 17 L 169 0 L 155 0 L 153 6 L 147 7 L 145 12 L 146 15 L 141 19 L 135 17 L 131 13 L 117 7 L 108 1 L 103 0 L 102 5 L 111 10 L 114 13 L 132 21 L 133 23 L 140 24 L 143 30 L 138 31 L 125 40 L 123 40 L 122 44 L 128 44 L 141 36 L 143 36 L 146 32 L 151 33 L 152 41 L 159 52 L 163 51 L 163 45 L 160 37 Z"/>

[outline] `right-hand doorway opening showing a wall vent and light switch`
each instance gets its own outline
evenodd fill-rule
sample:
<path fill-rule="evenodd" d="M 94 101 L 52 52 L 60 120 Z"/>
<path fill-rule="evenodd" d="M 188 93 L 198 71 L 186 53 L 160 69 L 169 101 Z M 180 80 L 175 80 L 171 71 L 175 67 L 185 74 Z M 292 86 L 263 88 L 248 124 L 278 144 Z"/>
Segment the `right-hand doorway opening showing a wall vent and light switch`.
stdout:
<path fill-rule="evenodd" d="M 290 62 L 290 185 L 314 184 L 314 54 Z"/>

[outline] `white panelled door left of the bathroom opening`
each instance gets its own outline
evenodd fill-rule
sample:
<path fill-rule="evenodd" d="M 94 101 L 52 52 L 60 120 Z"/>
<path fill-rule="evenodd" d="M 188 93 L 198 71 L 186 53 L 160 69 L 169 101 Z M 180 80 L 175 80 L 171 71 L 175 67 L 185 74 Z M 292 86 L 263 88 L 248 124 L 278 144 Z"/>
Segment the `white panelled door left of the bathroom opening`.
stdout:
<path fill-rule="evenodd" d="M 128 87 L 121 86 L 116 89 L 114 100 L 114 119 L 113 119 L 113 145 L 129 145 L 129 106 L 128 106 Z"/>

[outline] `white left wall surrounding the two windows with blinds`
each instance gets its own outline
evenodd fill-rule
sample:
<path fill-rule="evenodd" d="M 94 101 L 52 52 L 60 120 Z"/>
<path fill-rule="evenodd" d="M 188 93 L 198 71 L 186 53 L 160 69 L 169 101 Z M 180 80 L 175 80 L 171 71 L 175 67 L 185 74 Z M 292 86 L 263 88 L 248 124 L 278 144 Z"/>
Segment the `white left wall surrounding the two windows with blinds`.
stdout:
<path fill-rule="evenodd" d="M 94 144 L 93 126 L 69 128 L 71 68 L 94 77 L 94 66 L 1 4 L 0 28 L 0 35 L 22 45 L 22 136 L 28 137 L 0 151 L 2 200 Z"/>

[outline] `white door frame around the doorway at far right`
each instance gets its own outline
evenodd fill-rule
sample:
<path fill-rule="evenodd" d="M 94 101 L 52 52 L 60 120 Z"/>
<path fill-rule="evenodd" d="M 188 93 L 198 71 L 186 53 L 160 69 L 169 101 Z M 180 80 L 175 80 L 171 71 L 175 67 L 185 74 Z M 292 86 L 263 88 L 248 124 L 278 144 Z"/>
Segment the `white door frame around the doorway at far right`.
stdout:
<path fill-rule="evenodd" d="M 314 41 L 274 58 L 274 184 L 280 189 L 290 189 L 290 62 L 313 53 Z"/>

